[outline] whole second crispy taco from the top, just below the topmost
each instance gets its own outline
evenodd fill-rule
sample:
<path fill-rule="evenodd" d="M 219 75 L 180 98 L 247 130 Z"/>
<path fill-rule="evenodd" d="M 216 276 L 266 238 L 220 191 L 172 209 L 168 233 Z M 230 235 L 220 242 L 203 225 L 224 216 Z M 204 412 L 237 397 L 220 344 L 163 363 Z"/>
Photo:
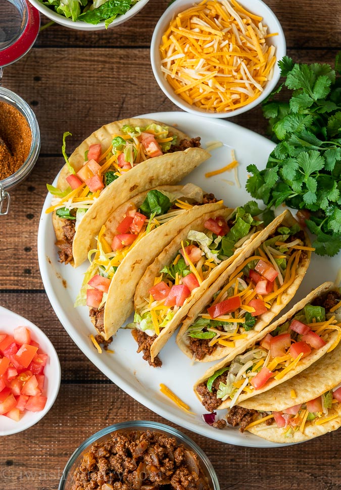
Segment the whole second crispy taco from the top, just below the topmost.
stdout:
<path fill-rule="evenodd" d="M 75 306 L 90 308 L 92 322 L 108 340 L 133 311 L 137 283 L 155 257 L 193 219 L 222 208 L 222 201 L 194 184 L 135 195 L 111 214 L 96 237 Z"/>

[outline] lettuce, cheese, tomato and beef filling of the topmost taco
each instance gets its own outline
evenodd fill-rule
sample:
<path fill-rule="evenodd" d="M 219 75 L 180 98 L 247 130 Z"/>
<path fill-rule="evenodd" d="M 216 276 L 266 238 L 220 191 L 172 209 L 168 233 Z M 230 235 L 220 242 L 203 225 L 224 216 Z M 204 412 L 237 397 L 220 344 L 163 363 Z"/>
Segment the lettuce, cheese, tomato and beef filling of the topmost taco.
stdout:
<path fill-rule="evenodd" d="M 178 143 L 177 136 L 168 126 L 154 123 L 146 127 L 124 125 L 121 133 L 114 135 L 112 144 L 104 152 L 101 144 L 91 144 L 84 154 L 83 167 L 76 173 L 65 151 L 65 138 L 69 135 L 71 133 L 64 133 L 62 146 L 62 153 L 70 172 L 66 177 L 69 186 L 62 190 L 47 184 L 47 189 L 54 199 L 46 213 L 55 211 L 57 216 L 64 220 L 76 220 L 73 224 L 75 228 L 106 186 L 139 163 L 169 153 L 172 146 L 176 148 Z M 200 138 L 181 140 L 180 143 L 183 148 L 198 147 Z M 69 253 L 72 239 L 65 235 L 57 243 L 62 249 L 59 254 L 61 262 L 68 263 L 72 259 L 72 253 Z M 65 249 L 67 250 L 64 253 Z"/>

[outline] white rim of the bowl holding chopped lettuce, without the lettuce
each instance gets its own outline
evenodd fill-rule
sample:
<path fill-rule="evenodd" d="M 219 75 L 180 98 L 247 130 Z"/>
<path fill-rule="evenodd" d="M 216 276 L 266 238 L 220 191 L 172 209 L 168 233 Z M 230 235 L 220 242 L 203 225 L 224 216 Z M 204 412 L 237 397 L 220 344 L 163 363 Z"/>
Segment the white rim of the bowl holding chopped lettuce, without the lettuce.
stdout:
<path fill-rule="evenodd" d="M 41 2 L 39 2 L 39 0 L 29 0 L 29 2 L 31 2 L 31 4 L 34 5 L 34 7 L 46 17 L 64 27 L 70 27 L 71 29 L 77 29 L 79 31 L 100 31 L 106 28 L 105 21 L 99 22 L 98 24 L 88 24 L 82 20 L 73 22 L 71 18 L 67 19 L 64 15 L 57 14 L 57 12 L 55 12 L 52 8 L 43 5 Z M 128 10 L 126 14 L 117 16 L 116 19 L 109 24 L 108 28 L 118 26 L 119 24 L 131 19 L 135 14 L 137 14 L 137 12 L 143 9 L 148 2 L 149 0 L 139 0 L 131 7 L 131 9 Z"/>

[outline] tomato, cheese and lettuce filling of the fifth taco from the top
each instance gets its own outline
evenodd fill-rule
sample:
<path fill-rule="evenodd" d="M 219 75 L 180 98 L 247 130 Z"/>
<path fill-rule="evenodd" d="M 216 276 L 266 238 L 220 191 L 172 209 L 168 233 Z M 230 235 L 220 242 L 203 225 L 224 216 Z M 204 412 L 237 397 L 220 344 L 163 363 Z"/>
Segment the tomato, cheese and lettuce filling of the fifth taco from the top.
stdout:
<path fill-rule="evenodd" d="M 341 298 L 339 294 L 338 298 Z M 279 381 L 302 358 L 326 345 L 331 330 L 336 330 L 337 335 L 328 352 L 341 340 L 341 322 L 333 313 L 326 313 L 323 307 L 307 304 L 245 354 L 236 356 L 229 366 L 199 384 L 197 391 L 203 405 L 211 412 L 230 399 L 231 408 L 239 396 L 265 387 L 269 379 L 274 377 Z"/>

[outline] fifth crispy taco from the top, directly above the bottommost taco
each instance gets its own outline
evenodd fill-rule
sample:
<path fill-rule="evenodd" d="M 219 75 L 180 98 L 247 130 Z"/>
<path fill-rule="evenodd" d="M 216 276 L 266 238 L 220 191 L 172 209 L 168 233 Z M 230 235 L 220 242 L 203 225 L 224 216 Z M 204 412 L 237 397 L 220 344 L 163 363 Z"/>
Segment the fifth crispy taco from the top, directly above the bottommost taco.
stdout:
<path fill-rule="evenodd" d="M 249 339 L 237 355 L 211 367 L 194 385 L 204 407 L 212 412 L 260 396 L 331 352 L 341 339 L 341 322 L 333 309 L 337 302 L 330 298 L 339 302 L 341 296 L 325 282 Z"/>

